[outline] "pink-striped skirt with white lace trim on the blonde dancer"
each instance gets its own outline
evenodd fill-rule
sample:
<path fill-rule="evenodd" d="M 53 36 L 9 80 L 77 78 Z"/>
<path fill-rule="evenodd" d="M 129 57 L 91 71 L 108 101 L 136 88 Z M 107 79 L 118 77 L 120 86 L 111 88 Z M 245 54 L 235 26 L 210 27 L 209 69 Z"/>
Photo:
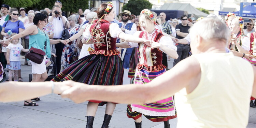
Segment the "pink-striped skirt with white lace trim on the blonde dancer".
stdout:
<path fill-rule="evenodd" d="M 166 70 L 159 72 L 147 72 L 144 69 L 136 70 L 134 84 L 146 84 L 155 77 L 163 74 Z M 127 116 L 138 119 L 142 114 L 152 122 L 163 122 L 177 117 L 174 97 L 169 97 L 153 103 L 146 104 L 128 104 Z"/>

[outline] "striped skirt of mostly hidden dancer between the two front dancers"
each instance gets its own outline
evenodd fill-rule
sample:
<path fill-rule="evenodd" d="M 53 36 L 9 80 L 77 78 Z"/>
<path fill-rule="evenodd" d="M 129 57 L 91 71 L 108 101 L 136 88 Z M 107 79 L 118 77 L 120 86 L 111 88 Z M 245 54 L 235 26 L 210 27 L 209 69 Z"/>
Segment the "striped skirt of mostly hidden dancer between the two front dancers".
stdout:
<path fill-rule="evenodd" d="M 136 70 L 136 66 L 139 63 L 139 49 L 138 47 L 133 47 L 130 57 L 130 63 L 129 63 L 129 71 L 128 71 L 128 77 L 133 78 Z"/>

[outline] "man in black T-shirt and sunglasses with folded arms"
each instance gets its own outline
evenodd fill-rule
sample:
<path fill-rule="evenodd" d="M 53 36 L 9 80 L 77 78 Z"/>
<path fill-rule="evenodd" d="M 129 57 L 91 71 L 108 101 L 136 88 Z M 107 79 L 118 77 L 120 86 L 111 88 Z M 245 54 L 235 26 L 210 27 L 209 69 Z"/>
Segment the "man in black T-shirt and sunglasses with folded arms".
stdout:
<path fill-rule="evenodd" d="M 176 25 L 176 38 L 177 39 L 183 39 L 188 35 L 188 29 L 190 28 L 187 25 L 188 17 L 187 15 L 181 16 L 181 24 Z M 174 59 L 173 67 L 180 62 L 181 60 L 187 58 L 188 52 L 190 51 L 190 45 L 188 44 L 176 44 L 177 46 L 177 53 L 179 55 L 179 58 Z"/>

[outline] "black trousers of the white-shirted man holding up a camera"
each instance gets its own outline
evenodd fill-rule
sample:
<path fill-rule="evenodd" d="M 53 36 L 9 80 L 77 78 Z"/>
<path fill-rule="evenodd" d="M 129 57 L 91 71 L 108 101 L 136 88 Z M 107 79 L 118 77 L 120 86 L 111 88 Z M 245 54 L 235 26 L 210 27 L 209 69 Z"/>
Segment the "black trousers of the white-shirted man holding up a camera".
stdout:
<path fill-rule="evenodd" d="M 54 40 L 57 40 L 57 39 L 54 39 Z M 56 49 L 56 67 L 57 67 L 57 73 L 56 74 L 59 74 L 60 72 L 60 68 L 61 68 L 61 63 L 60 63 L 60 60 L 61 60 L 61 55 L 62 55 L 62 51 L 63 51 L 63 48 L 64 48 L 64 44 L 62 43 L 58 43 L 58 44 L 54 44 L 55 45 L 55 49 Z"/>

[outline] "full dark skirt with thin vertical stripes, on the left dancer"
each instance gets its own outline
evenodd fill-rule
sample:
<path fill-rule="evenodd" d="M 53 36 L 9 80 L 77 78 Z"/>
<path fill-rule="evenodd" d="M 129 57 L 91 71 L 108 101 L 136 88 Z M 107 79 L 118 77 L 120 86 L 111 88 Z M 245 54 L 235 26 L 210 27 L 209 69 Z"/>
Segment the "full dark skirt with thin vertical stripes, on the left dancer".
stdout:
<path fill-rule="evenodd" d="M 67 81 L 89 85 L 122 85 L 124 68 L 118 55 L 88 55 L 70 64 L 55 76 L 52 81 Z M 94 101 L 102 106 L 106 102 Z"/>

